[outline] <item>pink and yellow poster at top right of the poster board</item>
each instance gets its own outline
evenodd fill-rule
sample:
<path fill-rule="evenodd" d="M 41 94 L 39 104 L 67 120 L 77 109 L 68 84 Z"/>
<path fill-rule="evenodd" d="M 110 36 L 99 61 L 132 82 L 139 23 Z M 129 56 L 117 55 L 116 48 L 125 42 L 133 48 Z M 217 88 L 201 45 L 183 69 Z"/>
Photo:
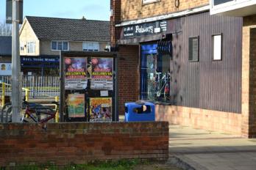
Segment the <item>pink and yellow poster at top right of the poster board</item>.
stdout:
<path fill-rule="evenodd" d="M 90 89 L 113 90 L 113 58 L 91 59 Z"/>

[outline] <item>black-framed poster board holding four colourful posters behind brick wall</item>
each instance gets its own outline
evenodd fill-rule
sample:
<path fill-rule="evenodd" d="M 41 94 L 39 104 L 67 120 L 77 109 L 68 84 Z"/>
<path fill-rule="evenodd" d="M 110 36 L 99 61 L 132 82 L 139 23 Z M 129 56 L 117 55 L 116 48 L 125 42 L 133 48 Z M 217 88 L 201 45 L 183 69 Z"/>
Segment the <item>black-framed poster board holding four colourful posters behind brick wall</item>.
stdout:
<path fill-rule="evenodd" d="M 112 52 L 61 51 L 61 122 L 118 120 L 116 61 Z"/>

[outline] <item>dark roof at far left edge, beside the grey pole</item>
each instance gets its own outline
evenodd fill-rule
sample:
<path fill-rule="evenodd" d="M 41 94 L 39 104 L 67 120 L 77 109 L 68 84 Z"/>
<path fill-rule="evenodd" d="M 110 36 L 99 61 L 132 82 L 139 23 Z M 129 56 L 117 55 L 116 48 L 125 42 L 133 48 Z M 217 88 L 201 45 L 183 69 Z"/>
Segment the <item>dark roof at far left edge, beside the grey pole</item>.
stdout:
<path fill-rule="evenodd" d="M 0 55 L 12 56 L 12 37 L 0 36 Z"/>

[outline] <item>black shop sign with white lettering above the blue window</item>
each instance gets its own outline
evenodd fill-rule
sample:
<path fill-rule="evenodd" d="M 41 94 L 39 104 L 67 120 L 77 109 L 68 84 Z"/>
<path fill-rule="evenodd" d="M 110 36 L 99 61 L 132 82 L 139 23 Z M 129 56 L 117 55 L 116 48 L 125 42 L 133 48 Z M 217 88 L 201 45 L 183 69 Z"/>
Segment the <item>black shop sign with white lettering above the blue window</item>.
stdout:
<path fill-rule="evenodd" d="M 156 21 L 154 23 L 142 23 L 124 27 L 124 38 L 142 37 L 166 32 L 167 22 Z"/>

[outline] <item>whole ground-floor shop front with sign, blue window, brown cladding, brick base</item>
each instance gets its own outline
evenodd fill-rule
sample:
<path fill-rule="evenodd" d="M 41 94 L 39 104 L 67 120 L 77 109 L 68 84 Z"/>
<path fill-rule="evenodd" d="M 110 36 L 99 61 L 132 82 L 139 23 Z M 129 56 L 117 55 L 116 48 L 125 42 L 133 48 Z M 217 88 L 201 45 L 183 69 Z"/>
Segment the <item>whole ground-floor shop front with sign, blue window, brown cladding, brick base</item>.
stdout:
<path fill-rule="evenodd" d="M 134 69 L 119 75 L 119 105 L 150 100 L 158 120 L 241 135 L 242 19 L 206 11 L 140 22 L 116 26 L 118 69 Z"/>

